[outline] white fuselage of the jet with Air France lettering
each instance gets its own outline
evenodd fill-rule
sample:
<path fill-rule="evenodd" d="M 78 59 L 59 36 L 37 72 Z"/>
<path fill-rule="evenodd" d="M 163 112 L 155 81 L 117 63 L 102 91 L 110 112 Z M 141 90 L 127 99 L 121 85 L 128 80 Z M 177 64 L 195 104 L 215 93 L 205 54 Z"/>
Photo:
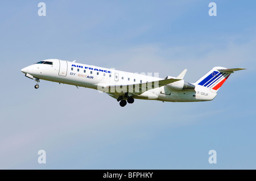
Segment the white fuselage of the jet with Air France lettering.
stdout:
<path fill-rule="evenodd" d="M 31 76 L 46 81 L 65 83 L 79 87 L 101 90 L 101 87 L 114 85 L 134 85 L 145 82 L 159 81 L 163 78 L 153 77 L 126 71 L 101 68 L 93 65 L 79 64 L 76 62 L 49 59 L 45 61 L 53 62 L 48 64 L 33 64 L 22 69 L 27 77 Z M 173 77 L 175 78 L 175 77 Z M 172 83 L 175 85 L 176 82 Z M 163 102 L 198 102 L 212 100 L 217 95 L 203 86 L 195 85 L 193 90 L 175 90 L 171 85 L 162 86 L 143 92 L 142 94 L 132 94 L 134 99 L 161 100 Z M 108 92 L 113 98 L 118 98 L 119 94 Z M 120 93 L 121 94 L 121 93 Z"/>

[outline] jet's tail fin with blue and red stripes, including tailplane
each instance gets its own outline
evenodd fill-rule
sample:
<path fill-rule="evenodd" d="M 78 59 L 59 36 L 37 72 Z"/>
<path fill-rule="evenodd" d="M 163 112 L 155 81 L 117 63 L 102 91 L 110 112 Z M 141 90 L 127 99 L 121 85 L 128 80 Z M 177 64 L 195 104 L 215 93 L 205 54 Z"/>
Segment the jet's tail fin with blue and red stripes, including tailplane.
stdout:
<path fill-rule="evenodd" d="M 243 69 L 226 69 L 220 66 L 216 66 L 203 77 L 201 77 L 198 81 L 196 81 L 195 84 L 204 86 L 212 92 L 217 92 L 220 89 L 220 87 L 224 84 L 226 79 L 229 78 L 229 75 L 237 70 Z"/>

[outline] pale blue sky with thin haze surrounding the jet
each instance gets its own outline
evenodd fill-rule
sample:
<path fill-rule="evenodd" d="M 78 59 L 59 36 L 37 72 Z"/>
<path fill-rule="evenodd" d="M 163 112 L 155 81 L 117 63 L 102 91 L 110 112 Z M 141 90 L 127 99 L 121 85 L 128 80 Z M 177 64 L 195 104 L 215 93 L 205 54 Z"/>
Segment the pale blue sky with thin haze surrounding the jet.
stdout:
<path fill-rule="evenodd" d="M 0 169 L 256 169 L 255 1 L 43 1 L 38 16 L 39 2 L 0 6 Z M 247 70 L 212 102 L 122 108 L 95 90 L 35 90 L 20 69 L 48 58 L 160 77 L 188 69 L 191 83 L 213 66 Z"/>

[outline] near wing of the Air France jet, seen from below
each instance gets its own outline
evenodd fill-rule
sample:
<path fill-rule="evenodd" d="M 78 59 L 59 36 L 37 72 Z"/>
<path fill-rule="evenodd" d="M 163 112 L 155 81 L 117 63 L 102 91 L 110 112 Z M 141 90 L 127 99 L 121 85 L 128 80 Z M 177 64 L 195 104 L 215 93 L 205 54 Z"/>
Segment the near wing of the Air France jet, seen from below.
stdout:
<path fill-rule="evenodd" d="M 157 87 L 162 87 L 164 85 L 167 85 L 172 82 L 180 81 L 181 79 L 162 79 L 160 81 L 154 81 L 154 82 L 146 82 L 146 83 L 137 83 L 137 84 L 131 84 L 131 85 L 113 85 L 113 86 L 106 86 L 108 89 L 108 93 L 110 94 L 124 94 L 126 92 L 129 92 L 133 95 L 139 95 L 143 92 L 146 92 L 150 89 L 155 89 Z M 104 91 L 106 92 L 106 91 Z"/>

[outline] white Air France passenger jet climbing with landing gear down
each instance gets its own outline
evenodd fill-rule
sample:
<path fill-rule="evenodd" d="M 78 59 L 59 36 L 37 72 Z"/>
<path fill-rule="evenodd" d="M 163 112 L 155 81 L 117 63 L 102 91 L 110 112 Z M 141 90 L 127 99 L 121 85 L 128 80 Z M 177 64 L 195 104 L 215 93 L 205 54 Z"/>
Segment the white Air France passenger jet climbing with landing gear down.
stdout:
<path fill-rule="evenodd" d="M 26 77 L 79 87 L 95 89 L 117 99 L 121 107 L 134 99 L 160 100 L 162 102 L 202 102 L 213 100 L 229 75 L 243 68 L 227 69 L 216 66 L 195 83 L 184 81 L 187 69 L 177 77 L 129 73 L 127 71 L 79 64 L 76 61 L 48 59 L 23 68 Z"/>

